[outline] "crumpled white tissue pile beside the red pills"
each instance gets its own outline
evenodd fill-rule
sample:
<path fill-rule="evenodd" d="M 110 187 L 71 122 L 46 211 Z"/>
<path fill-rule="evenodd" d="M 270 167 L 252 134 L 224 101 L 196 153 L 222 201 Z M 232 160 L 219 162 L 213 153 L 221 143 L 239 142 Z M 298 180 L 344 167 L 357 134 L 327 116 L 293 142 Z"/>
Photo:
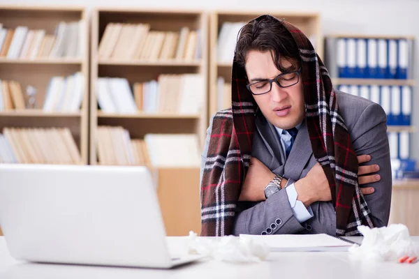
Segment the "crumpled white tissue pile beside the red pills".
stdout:
<path fill-rule="evenodd" d="M 419 246 L 410 235 L 409 229 L 402 224 L 370 229 L 358 226 L 364 236 L 361 246 L 352 246 L 349 252 L 362 259 L 375 262 L 394 261 L 403 256 L 418 256 Z"/>

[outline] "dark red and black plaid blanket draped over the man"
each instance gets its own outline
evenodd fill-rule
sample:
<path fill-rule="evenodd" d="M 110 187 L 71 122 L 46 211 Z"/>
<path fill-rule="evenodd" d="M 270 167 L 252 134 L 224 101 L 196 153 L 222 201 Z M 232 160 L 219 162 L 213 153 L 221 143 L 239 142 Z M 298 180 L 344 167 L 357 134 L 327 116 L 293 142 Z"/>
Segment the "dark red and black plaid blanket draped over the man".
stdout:
<path fill-rule="evenodd" d="M 328 179 L 338 236 L 360 235 L 358 225 L 374 227 L 358 186 L 358 159 L 328 70 L 309 39 L 292 24 L 282 24 L 300 50 L 306 121 L 311 148 Z M 232 234 L 240 189 L 249 167 L 256 103 L 246 88 L 244 68 L 233 63 L 232 107 L 215 114 L 201 183 L 202 236 Z"/>

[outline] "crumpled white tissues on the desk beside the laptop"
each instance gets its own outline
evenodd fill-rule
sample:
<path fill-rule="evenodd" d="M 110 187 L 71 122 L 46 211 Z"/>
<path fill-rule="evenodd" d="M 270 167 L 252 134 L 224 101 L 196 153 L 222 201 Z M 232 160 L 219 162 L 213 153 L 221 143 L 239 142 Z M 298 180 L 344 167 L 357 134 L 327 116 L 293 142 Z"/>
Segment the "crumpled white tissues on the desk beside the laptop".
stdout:
<path fill-rule="evenodd" d="M 269 254 L 265 243 L 258 243 L 246 236 L 221 236 L 214 238 L 197 237 L 189 232 L 188 250 L 224 262 L 261 262 Z"/>

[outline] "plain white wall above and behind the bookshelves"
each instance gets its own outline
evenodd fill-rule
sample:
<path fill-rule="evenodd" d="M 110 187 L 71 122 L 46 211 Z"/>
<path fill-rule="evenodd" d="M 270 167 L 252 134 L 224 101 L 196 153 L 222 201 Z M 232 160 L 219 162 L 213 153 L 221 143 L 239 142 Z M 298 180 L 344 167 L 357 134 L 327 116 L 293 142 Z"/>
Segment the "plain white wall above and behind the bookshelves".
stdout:
<path fill-rule="evenodd" d="M 263 3 L 263 5 L 261 5 Z M 413 35 L 419 38 L 419 1 L 415 0 L 0 0 L 0 4 L 34 4 L 64 6 L 119 6 L 145 8 L 292 10 L 321 13 L 323 34 L 365 33 Z M 1 19 L 0 19 L 1 21 Z M 418 43 L 415 45 L 418 50 Z M 419 52 L 416 52 L 419 54 Z M 419 63 L 416 55 L 416 82 L 419 84 Z M 419 106 L 419 90 L 413 96 L 413 107 Z M 419 128 L 419 112 L 413 109 L 413 125 Z M 419 140 L 413 135 L 413 142 Z M 419 160 L 419 146 L 411 144 L 413 158 Z"/>

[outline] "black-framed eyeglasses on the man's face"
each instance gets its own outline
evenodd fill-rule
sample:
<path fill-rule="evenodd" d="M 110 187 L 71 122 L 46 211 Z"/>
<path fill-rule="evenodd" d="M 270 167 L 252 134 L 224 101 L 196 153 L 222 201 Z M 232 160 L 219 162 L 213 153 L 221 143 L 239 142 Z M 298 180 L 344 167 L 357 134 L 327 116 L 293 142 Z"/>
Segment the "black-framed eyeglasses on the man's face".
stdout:
<path fill-rule="evenodd" d="M 247 84 L 247 90 L 249 90 L 253 95 L 263 95 L 269 93 L 272 90 L 272 82 L 278 84 L 281 88 L 286 88 L 293 86 L 298 83 L 300 80 L 301 67 L 298 70 L 294 70 L 289 73 L 281 73 L 272 80 L 263 80 L 260 82 L 253 82 Z"/>

